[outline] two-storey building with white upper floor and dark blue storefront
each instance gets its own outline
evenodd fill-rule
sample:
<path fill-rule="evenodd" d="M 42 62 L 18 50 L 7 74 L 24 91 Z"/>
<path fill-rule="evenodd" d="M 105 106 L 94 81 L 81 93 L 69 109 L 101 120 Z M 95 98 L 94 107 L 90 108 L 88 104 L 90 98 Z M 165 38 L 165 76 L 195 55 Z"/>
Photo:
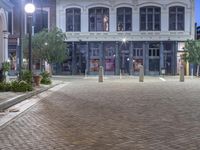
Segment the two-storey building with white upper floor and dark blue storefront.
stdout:
<path fill-rule="evenodd" d="M 57 0 L 56 25 L 66 32 L 70 56 L 63 74 L 175 75 L 184 41 L 194 39 L 194 0 Z"/>

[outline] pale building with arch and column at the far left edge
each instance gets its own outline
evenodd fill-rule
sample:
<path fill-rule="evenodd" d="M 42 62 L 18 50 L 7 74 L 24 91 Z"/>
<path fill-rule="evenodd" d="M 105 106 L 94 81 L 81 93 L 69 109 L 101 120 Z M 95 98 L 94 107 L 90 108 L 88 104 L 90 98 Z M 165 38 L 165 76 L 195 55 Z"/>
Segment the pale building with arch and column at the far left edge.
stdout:
<path fill-rule="evenodd" d="M 13 5 L 8 0 L 0 1 L 0 67 L 8 60 L 8 13 Z"/>

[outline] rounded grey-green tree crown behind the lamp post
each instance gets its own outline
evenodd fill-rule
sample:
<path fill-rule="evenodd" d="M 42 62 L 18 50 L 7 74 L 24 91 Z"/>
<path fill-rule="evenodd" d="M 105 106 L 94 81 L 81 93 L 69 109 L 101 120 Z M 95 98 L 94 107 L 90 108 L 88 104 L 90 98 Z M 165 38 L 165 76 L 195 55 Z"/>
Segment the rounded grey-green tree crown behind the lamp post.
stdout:
<path fill-rule="evenodd" d="M 32 37 L 33 59 L 42 59 L 49 64 L 63 62 L 68 54 L 65 33 L 58 28 L 43 30 Z M 28 36 L 23 40 L 24 56 L 28 58 Z"/>

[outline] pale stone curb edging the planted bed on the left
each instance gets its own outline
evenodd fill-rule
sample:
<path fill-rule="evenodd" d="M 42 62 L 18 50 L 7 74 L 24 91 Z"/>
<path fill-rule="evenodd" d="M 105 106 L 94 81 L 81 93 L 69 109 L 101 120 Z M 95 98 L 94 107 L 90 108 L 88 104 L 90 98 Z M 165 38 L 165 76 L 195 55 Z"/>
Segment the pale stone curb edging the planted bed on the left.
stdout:
<path fill-rule="evenodd" d="M 11 98 L 11 99 L 8 99 L 2 103 L 0 103 L 0 112 L 3 112 L 4 110 L 8 109 L 9 107 L 13 106 L 13 105 L 16 105 L 17 103 L 20 103 L 30 97 L 33 97 L 37 94 L 40 94 L 44 91 L 47 91 L 48 89 L 51 89 L 57 85 L 59 85 L 60 83 L 57 83 L 57 84 L 54 84 L 54 85 L 51 85 L 49 87 L 45 87 L 45 88 L 42 88 L 40 90 L 37 90 L 37 91 L 31 91 L 31 92 L 28 92 L 28 93 L 25 93 L 25 94 L 22 94 L 22 95 L 18 95 L 17 97 L 14 97 L 14 98 Z"/>

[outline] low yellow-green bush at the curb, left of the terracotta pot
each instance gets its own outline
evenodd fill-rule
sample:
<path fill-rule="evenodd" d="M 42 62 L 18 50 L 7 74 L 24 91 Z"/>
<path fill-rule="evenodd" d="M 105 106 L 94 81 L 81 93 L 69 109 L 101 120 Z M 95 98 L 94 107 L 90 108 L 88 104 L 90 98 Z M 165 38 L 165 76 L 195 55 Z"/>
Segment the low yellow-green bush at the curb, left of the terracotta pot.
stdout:
<path fill-rule="evenodd" d="M 12 81 L 12 91 L 13 92 L 26 92 L 32 91 L 33 87 L 31 84 L 27 83 L 26 81 Z"/>

